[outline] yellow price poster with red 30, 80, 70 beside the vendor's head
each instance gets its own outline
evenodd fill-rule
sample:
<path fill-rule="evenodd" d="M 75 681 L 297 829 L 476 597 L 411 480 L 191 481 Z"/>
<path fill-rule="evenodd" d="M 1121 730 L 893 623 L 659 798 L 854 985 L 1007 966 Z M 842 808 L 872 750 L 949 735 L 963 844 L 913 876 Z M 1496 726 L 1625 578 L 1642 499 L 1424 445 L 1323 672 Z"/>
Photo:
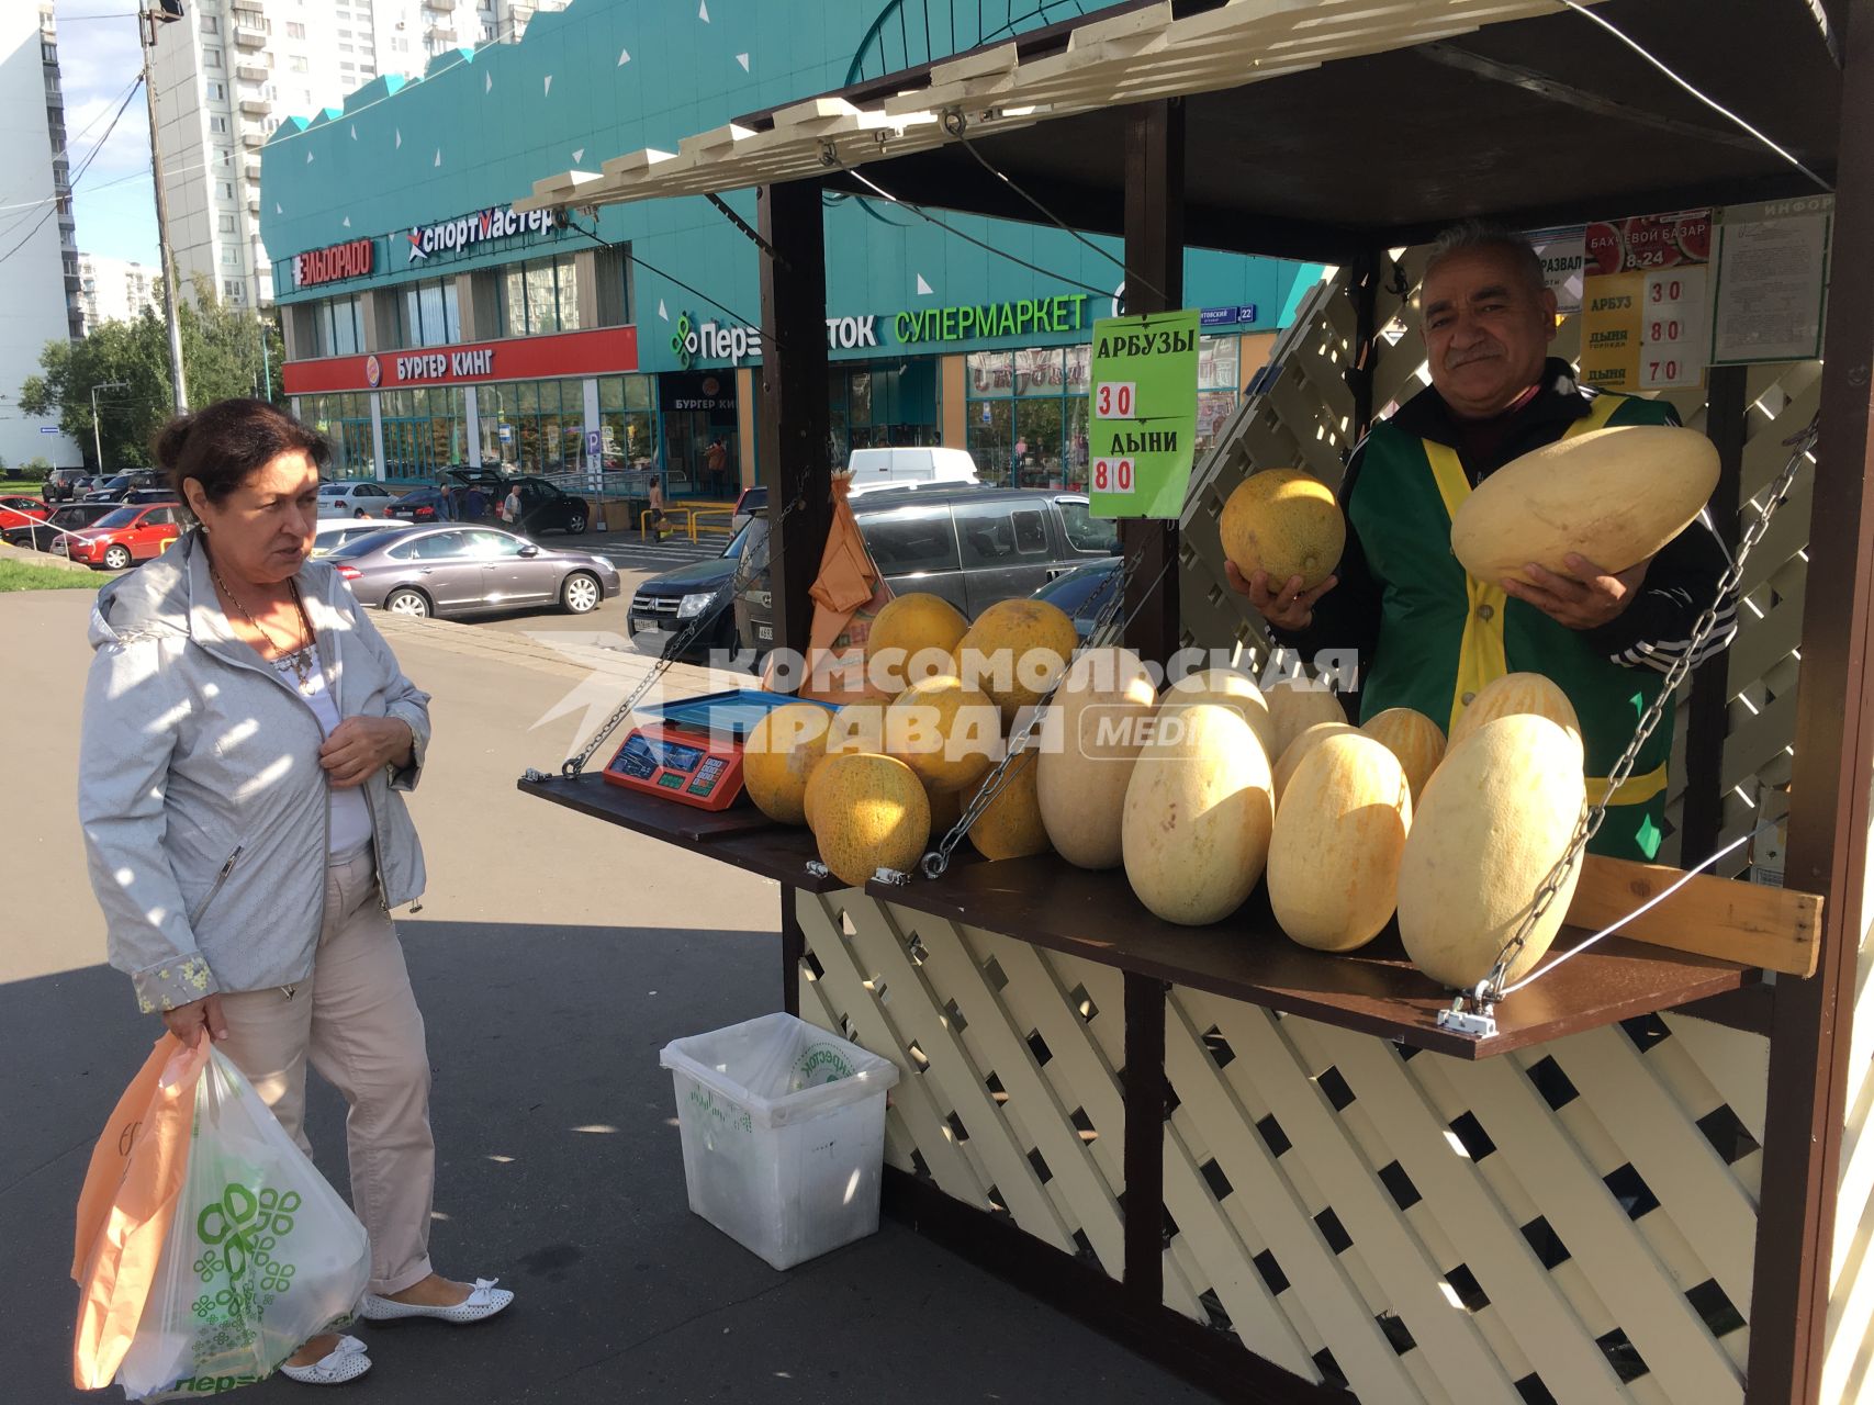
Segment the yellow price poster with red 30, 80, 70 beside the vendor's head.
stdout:
<path fill-rule="evenodd" d="M 1711 212 L 1589 225 L 1582 285 L 1582 380 L 1675 390 L 1705 378 L 1711 337 Z"/>

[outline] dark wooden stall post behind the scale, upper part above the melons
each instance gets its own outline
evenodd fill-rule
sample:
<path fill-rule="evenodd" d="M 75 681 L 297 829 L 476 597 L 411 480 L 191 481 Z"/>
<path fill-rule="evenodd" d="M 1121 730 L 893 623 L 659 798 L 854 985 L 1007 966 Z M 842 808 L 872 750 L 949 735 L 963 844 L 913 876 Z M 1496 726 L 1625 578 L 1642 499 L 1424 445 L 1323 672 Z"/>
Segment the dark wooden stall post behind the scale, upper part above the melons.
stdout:
<path fill-rule="evenodd" d="M 806 654 L 808 590 L 832 523 L 826 461 L 826 229 L 817 180 L 755 193 L 761 238 L 761 481 L 774 648 Z M 781 266 L 785 262 L 785 268 Z"/>

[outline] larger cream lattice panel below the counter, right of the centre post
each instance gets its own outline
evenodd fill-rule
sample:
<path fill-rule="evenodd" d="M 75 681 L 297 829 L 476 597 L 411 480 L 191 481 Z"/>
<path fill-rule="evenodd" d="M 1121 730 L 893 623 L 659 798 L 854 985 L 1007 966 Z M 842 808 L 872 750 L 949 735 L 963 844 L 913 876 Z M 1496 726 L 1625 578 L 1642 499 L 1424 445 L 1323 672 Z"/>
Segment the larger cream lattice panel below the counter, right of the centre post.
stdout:
<path fill-rule="evenodd" d="M 1212 1326 L 1362 1401 L 1737 1401 L 1765 1068 L 1670 1015 L 1469 1064 L 1179 987 L 1169 1255 Z M 1207 1276 L 1218 1242 L 1252 1279 Z"/>

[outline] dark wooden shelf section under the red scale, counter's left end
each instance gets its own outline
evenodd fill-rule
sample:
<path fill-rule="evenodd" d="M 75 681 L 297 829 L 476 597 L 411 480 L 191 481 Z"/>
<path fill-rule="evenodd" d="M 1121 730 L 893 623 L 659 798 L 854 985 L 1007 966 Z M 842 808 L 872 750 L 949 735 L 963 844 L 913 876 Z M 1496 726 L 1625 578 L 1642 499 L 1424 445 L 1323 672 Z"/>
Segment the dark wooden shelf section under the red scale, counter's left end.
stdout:
<path fill-rule="evenodd" d="M 838 879 L 808 873 L 808 860 L 819 858 L 811 834 L 776 824 L 748 800 L 729 809 L 697 809 L 611 785 L 598 772 L 572 781 L 517 781 L 515 789 L 795 888 L 819 894 L 845 886 Z"/>

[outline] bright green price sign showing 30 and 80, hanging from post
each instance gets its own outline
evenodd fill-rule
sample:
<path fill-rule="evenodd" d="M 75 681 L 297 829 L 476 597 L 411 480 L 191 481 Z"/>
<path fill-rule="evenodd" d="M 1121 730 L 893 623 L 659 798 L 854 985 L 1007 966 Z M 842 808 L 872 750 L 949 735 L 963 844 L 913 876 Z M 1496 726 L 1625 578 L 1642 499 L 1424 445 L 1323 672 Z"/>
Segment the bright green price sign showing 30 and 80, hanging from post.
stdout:
<path fill-rule="evenodd" d="M 1182 513 L 1197 442 L 1197 330 L 1196 307 L 1093 324 L 1094 517 Z"/>

